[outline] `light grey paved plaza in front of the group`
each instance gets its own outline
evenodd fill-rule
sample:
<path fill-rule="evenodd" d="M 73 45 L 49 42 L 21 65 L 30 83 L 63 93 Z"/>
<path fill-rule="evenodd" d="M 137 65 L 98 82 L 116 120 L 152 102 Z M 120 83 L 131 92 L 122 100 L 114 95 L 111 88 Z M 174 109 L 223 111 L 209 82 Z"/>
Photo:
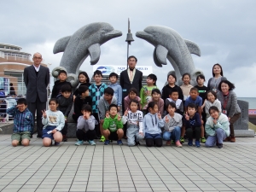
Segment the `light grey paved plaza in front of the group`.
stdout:
<path fill-rule="evenodd" d="M 224 148 L 129 148 L 69 139 L 13 148 L 0 136 L 0 191 L 256 191 L 256 138 Z M 124 140 L 125 142 L 125 140 Z"/>

